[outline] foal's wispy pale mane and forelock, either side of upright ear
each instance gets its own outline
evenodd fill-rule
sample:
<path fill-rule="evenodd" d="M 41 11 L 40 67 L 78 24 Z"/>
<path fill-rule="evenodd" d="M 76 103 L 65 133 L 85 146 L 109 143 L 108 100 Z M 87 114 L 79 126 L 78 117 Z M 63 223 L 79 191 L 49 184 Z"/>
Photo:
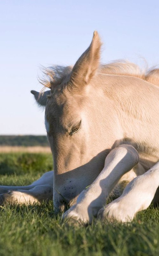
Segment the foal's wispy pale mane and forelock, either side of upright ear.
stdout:
<path fill-rule="evenodd" d="M 73 66 L 52 66 L 43 68 L 43 77 L 39 79 L 39 82 L 44 85 L 41 92 L 43 92 L 46 87 L 52 90 L 63 81 L 68 81 L 72 69 Z M 141 69 L 135 63 L 125 60 L 117 60 L 108 64 L 100 64 L 98 73 L 138 77 L 151 84 L 159 86 L 159 69 Z"/>

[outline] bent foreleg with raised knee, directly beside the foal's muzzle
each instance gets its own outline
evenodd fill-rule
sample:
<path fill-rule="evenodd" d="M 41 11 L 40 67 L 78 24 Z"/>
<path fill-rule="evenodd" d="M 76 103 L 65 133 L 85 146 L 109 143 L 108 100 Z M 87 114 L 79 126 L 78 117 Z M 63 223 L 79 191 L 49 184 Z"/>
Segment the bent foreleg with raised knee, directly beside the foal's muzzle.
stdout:
<path fill-rule="evenodd" d="M 97 216 L 119 179 L 137 165 L 138 161 L 138 153 L 131 145 L 120 145 L 113 149 L 107 155 L 99 176 L 82 191 L 77 203 L 64 213 L 63 218 L 74 218 L 83 223 L 91 223 L 93 216 Z"/>

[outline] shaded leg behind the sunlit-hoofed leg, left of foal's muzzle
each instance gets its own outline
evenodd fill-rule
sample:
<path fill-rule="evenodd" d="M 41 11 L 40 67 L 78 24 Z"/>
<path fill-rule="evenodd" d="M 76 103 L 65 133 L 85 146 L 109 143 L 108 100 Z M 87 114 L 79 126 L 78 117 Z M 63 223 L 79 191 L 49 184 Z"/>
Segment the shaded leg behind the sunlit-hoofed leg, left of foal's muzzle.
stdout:
<path fill-rule="evenodd" d="M 7 193 L 9 190 L 30 190 L 31 188 L 39 185 L 49 185 L 53 187 L 53 171 L 44 173 L 40 179 L 34 181 L 31 185 L 28 186 L 0 186 L 0 194 Z"/>

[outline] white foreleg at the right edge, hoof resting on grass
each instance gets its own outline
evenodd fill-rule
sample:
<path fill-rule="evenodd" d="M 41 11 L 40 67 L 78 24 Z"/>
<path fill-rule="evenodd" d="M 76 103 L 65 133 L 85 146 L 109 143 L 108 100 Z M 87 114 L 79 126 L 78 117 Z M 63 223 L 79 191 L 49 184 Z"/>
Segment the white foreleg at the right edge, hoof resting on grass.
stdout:
<path fill-rule="evenodd" d="M 133 179 L 119 198 L 100 209 L 98 217 L 109 221 L 132 221 L 139 211 L 149 207 L 158 186 L 159 162 L 149 171 Z"/>

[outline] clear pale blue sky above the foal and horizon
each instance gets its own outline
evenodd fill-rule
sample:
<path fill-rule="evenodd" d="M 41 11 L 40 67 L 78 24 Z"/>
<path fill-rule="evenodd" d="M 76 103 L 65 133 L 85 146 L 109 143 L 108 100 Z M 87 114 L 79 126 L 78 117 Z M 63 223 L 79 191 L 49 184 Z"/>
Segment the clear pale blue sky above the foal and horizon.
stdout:
<path fill-rule="evenodd" d="M 101 62 L 159 64 L 158 0 L 0 1 L 0 135 L 46 135 L 39 67 L 74 64 L 94 30 Z"/>

